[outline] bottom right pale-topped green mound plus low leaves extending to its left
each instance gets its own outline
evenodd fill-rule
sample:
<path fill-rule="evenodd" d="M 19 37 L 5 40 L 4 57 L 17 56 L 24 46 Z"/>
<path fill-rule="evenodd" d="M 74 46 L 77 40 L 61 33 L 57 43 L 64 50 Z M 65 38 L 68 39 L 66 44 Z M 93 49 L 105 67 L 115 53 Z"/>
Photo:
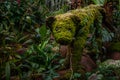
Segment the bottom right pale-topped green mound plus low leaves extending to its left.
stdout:
<path fill-rule="evenodd" d="M 119 60 L 106 60 L 98 65 L 95 71 L 85 74 L 86 80 L 119 80 Z"/>

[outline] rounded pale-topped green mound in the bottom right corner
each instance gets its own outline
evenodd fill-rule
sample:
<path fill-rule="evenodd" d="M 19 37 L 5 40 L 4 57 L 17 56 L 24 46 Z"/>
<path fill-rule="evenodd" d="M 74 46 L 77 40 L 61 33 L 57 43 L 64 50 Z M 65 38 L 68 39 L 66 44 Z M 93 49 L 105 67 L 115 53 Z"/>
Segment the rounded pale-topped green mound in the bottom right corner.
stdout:
<path fill-rule="evenodd" d="M 99 74 L 103 75 L 103 80 L 118 80 L 120 78 L 119 60 L 107 60 L 99 65 Z"/>

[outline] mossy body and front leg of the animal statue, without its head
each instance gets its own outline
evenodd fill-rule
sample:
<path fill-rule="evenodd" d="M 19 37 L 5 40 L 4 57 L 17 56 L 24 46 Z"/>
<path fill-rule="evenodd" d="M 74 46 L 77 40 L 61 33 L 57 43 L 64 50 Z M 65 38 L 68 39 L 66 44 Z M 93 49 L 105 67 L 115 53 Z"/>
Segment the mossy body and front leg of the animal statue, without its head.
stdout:
<path fill-rule="evenodd" d="M 92 8 L 92 9 L 91 9 Z M 74 50 L 72 55 L 72 67 L 74 72 L 81 72 L 80 60 L 83 52 L 83 48 L 86 44 L 88 34 L 90 33 L 90 26 L 94 24 L 94 20 L 96 20 L 96 16 L 101 16 L 99 10 L 95 8 L 95 6 L 90 6 L 77 11 L 73 11 L 74 14 L 78 15 L 82 20 L 80 25 L 83 28 L 80 29 L 79 33 L 76 36 L 76 40 L 74 41 Z M 88 14 L 89 13 L 89 14 Z M 97 14 L 97 15 L 96 15 Z M 99 14 L 99 15 L 98 15 Z M 91 15 L 91 16 L 90 16 Z"/>

